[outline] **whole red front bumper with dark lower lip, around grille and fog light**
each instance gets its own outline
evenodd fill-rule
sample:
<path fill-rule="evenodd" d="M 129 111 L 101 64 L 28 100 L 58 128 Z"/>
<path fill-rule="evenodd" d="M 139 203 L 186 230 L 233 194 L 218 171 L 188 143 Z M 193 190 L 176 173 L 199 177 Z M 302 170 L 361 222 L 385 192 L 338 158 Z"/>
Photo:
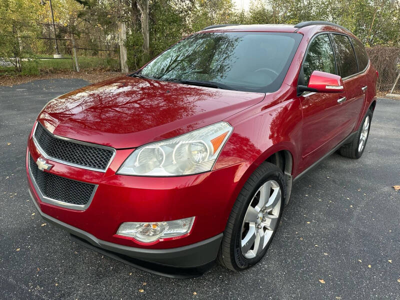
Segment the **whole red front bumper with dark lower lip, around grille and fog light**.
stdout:
<path fill-rule="evenodd" d="M 77 209 L 47 201 L 41 194 L 30 172 L 29 156 L 36 161 L 43 155 L 30 135 L 26 149 L 27 181 L 40 215 L 69 232 L 74 241 L 141 269 L 168 275 L 170 268 L 178 268 L 177 273 L 184 277 L 191 273 L 188 268 L 208 266 L 218 253 L 221 232 L 243 183 L 245 163 L 176 177 L 116 174 L 131 152 L 132 149 L 116 149 L 105 172 L 45 159 L 53 165 L 46 172 L 95 185 L 88 204 Z M 178 237 L 142 243 L 116 234 L 123 222 L 168 221 L 191 216 L 195 219 L 190 232 Z"/>

